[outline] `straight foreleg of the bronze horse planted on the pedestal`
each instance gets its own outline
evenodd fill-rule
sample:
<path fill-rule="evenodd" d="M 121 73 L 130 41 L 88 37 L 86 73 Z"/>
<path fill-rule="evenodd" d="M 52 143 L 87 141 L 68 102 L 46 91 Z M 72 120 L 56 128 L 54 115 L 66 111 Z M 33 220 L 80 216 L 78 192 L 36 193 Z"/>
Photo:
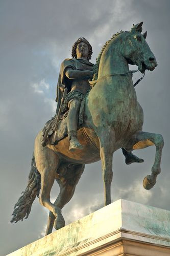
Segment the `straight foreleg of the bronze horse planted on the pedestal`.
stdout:
<path fill-rule="evenodd" d="M 103 129 L 98 133 L 100 140 L 100 156 L 104 182 L 105 205 L 111 203 L 111 182 L 113 177 L 112 159 L 114 152 L 115 135 L 112 128 Z"/>

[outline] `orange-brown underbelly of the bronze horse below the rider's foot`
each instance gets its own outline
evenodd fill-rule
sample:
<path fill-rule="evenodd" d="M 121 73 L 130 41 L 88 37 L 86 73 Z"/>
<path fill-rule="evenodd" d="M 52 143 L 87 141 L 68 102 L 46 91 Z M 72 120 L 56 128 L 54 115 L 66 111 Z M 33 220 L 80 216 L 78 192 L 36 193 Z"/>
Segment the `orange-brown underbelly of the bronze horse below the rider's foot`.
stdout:
<path fill-rule="evenodd" d="M 58 142 L 57 145 L 48 145 L 48 147 L 68 162 L 93 163 L 100 160 L 99 139 L 94 131 L 81 128 L 78 130 L 78 140 L 84 146 L 83 150 L 69 151 L 68 137 Z"/>

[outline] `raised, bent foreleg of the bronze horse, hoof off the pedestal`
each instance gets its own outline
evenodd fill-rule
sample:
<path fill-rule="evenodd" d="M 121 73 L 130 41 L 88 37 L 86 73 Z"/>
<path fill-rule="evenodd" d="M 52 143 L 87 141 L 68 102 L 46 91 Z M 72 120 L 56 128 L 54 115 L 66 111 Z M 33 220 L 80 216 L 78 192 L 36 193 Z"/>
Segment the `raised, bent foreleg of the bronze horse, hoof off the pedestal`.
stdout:
<path fill-rule="evenodd" d="M 131 150 L 139 150 L 151 145 L 156 146 L 156 155 L 154 165 L 152 166 L 151 175 L 148 175 L 143 180 L 143 187 L 145 189 L 151 189 L 156 183 L 156 177 L 161 172 L 160 163 L 162 156 L 162 148 L 164 145 L 163 137 L 161 134 L 137 132 L 133 135 L 131 141 Z"/>

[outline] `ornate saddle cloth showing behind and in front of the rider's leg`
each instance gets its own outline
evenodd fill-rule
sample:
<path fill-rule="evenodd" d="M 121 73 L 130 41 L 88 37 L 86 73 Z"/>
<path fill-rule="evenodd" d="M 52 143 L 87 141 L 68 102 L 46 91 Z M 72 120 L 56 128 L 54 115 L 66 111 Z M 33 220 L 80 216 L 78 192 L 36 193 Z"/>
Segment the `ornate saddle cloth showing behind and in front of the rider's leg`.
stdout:
<path fill-rule="evenodd" d="M 82 127 L 83 120 L 84 120 L 84 108 L 85 108 L 86 97 L 87 97 L 87 94 L 83 98 L 81 102 L 80 110 L 78 112 L 78 130 L 80 129 L 80 127 Z M 68 111 L 65 112 L 63 115 L 61 115 L 60 121 L 58 123 L 57 131 L 54 130 L 57 114 L 45 123 L 45 126 L 42 129 L 43 139 L 41 141 L 41 145 L 43 147 L 46 146 L 47 144 L 56 145 L 60 140 L 68 136 L 67 135 Z"/>

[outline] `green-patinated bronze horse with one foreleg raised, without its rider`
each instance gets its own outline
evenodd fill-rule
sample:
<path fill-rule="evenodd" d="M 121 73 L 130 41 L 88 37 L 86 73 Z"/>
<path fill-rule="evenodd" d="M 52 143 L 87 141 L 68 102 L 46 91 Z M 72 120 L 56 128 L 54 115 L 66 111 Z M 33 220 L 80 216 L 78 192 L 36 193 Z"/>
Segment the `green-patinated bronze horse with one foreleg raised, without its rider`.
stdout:
<path fill-rule="evenodd" d="M 42 131 L 35 140 L 32 168 L 28 186 L 14 207 L 11 222 L 22 220 L 31 211 L 36 196 L 40 204 L 50 210 L 46 234 L 53 226 L 64 226 L 61 214 L 63 206 L 72 198 L 76 185 L 86 163 L 102 161 L 105 205 L 111 203 L 112 158 L 120 147 L 127 151 L 151 145 L 156 146 L 155 162 L 151 175 L 143 180 L 145 189 L 151 189 L 160 173 L 163 138 L 160 134 L 142 132 L 143 111 L 137 101 L 128 64 L 137 65 L 138 70 L 154 70 L 155 56 L 141 34 L 142 23 L 130 31 L 121 31 L 106 42 L 96 65 L 95 86 L 90 90 L 84 111 L 84 123 L 78 130 L 78 139 L 84 148 L 70 152 L 68 137 L 57 145 L 42 147 Z M 54 181 L 60 186 L 60 193 L 54 203 L 50 192 Z M 41 185 L 40 185 L 41 184 Z"/>

